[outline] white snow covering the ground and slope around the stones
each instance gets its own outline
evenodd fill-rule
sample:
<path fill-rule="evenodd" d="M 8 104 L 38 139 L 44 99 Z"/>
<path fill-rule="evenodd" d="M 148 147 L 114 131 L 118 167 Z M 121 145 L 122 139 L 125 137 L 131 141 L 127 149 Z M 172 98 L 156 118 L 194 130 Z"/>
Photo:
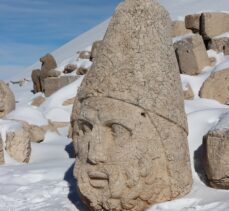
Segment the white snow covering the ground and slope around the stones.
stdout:
<path fill-rule="evenodd" d="M 184 15 L 200 11 L 229 11 L 228 0 L 161 0 L 173 19 L 183 19 Z M 90 48 L 93 41 L 102 39 L 109 21 L 105 21 L 89 32 L 77 37 L 53 52 L 60 69 L 76 57 L 76 52 Z M 229 126 L 229 106 L 214 100 L 200 99 L 198 91 L 211 72 L 229 67 L 229 57 L 209 51 L 209 56 L 216 58 L 214 67 L 204 68 L 198 76 L 181 75 L 182 83 L 190 83 L 195 99 L 185 101 L 185 110 L 189 124 L 189 148 L 192 161 L 194 184 L 191 193 L 171 202 L 154 205 L 151 211 L 228 211 L 229 191 L 207 187 L 200 179 L 201 166 L 194 166 L 201 152 L 203 136 L 214 127 Z M 42 56 L 42 55 L 41 55 Z M 82 66 L 90 65 L 88 61 L 76 62 Z M 39 62 L 10 79 L 30 78 L 32 68 Z M 69 121 L 72 106 L 62 103 L 74 97 L 83 77 L 59 90 L 40 107 L 31 106 L 31 101 L 40 94 L 31 93 L 31 81 L 25 86 L 10 85 L 16 95 L 16 111 L 7 119 L 26 120 L 35 125 L 44 125 L 48 120 Z M 218 124 L 220 122 L 220 124 Z M 0 121 L 0 132 L 12 127 L 10 120 Z M 71 140 L 67 138 L 68 128 L 58 133 L 47 132 L 42 143 L 32 144 L 30 164 L 18 164 L 5 153 L 6 164 L 0 167 L 0 211 L 70 211 L 85 210 L 76 193 L 76 182 L 73 177 L 74 158 Z M 3 138 L 4 139 L 4 138 Z"/>

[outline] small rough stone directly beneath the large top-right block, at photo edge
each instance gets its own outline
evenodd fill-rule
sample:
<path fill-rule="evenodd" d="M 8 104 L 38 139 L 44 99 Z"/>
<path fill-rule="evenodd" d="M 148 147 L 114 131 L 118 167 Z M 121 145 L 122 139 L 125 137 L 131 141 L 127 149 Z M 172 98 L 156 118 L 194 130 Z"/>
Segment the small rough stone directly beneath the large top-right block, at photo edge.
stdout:
<path fill-rule="evenodd" d="M 208 49 L 223 52 L 224 55 L 229 55 L 229 37 L 211 39 L 208 43 Z"/>

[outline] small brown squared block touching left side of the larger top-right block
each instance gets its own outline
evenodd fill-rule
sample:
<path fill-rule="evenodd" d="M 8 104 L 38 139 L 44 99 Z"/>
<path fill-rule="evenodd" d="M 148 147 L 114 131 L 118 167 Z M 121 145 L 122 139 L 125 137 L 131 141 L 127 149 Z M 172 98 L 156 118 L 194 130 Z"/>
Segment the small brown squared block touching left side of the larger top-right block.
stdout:
<path fill-rule="evenodd" d="M 185 16 L 185 27 L 187 29 L 191 29 L 194 33 L 199 33 L 200 16 L 201 14 L 192 14 Z"/>

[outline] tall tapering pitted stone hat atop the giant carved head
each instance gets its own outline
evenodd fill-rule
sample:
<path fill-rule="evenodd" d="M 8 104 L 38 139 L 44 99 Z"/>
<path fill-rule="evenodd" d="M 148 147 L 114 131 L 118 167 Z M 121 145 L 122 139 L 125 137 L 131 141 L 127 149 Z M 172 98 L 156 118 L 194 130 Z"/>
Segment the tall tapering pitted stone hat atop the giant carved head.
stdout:
<path fill-rule="evenodd" d="M 79 101 L 108 97 L 162 116 L 187 131 L 171 20 L 155 0 L 126 0 L 109 24 Z"/>

